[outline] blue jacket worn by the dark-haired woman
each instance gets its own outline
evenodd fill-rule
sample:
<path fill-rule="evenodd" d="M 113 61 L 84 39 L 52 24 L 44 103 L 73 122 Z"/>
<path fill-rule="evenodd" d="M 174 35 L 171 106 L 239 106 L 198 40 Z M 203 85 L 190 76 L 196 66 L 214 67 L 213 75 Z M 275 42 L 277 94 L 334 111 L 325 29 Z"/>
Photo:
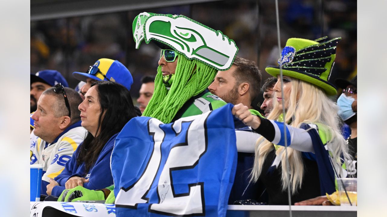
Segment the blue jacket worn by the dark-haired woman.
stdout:
<path fill-rule="evenodd" d="M 105 146 L 101 150 L 96 163 L 90 169 L 89 173 L 85 175 L 85 163 L 77 165 L 77 156 L 79 153 L 79 145 L 77 150 L 75 150 L 71 159 L 69 159 L 65 165 L 64 170 L 57 177 L 54 178 L 55 181 L 59 183 L 59 186 L 55 186 L 51 195 L 59 197 L 60 194 L 65 190 L 66 181 L 73 177 L 79 176 L 88 178 L 89 182 L 84 183 L 83 186 L 90 190 L 96 190 L 105 188 L 106 186 L 113 185 L 113 176 L 111 175 L 110 170 L 110 156 L 113 151 L 114 142 L 118 133 L 112 136 Z"/>

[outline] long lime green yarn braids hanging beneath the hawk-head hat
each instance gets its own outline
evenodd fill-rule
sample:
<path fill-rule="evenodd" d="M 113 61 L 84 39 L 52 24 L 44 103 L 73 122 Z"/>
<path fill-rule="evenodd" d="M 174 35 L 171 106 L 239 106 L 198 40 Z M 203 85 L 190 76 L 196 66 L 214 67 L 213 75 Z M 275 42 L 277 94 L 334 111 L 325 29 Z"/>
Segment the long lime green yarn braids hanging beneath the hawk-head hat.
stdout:
<path fill-rule="evenodd" d="M 196 68 L 195 68 L 196 67 Z M 175 78 L 168 91 L 163 84 L 161 66 L 157 68 L 154 93 L 142 116 L 170 123 L 184 103 L 204 91 L 216 76 L 217 70 L 197 60 L 179 55 Z"/>

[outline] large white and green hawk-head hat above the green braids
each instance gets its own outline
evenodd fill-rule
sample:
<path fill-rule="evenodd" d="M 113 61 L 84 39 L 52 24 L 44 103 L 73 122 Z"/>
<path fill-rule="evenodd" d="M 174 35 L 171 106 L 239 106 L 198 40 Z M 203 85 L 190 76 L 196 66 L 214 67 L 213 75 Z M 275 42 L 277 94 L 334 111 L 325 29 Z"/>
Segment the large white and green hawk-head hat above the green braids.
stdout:
<path fill-rule="evenodd" d="M 136 49 L 142 41 L 153 41 L 161 48 L 174 49 L 188 59 L 197 59 L 217 70 L 228 70 L 238 53 L 235 42 L 183 15 L 143 12 L 133 22 Z"/>

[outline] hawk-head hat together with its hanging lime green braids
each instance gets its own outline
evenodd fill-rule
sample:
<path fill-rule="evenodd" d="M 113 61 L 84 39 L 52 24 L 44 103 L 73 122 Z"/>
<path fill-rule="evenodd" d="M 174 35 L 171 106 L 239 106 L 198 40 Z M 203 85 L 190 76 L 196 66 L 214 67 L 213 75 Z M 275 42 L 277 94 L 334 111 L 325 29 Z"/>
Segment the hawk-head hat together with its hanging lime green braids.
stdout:
<path fill-rule="evenodd" d="M 164 123 L 170 123 L 185 102 L 203 92 L 217 70 L 228 70 L 238 53 L 235 42 L 221 31 L 183 15 L 140 13 L 133 22 L 133 38 L 136 49 L 142 41 L 152 41 L 179 54 L 169 90 L 159 66 L 153 96 L 143 113 Z"/>

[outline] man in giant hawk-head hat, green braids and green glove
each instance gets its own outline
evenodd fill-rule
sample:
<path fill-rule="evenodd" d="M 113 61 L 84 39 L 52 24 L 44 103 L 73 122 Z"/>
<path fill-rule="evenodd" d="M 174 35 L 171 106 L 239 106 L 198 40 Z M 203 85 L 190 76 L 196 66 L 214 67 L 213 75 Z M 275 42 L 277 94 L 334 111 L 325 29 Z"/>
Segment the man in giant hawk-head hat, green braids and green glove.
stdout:
<path fill-rule="evenodd" d="M 134 19 L 133 37 L 136 49 L 143 41 L 161 48 L 154 93 L 143 116 L 171 123 L 226 104 L 207 89 L 217 71 L 228 70 L 238 53 L 235 42 L 222 32 L 183 15 L 144 12 Z M 106 203 L 113 203 L 113 187 L 90 191 L 77 186 L 63 191 L 58 201 L 104 200 L 111 192 Z M 76 198 L 74 190 L 83 196 Z"/>

